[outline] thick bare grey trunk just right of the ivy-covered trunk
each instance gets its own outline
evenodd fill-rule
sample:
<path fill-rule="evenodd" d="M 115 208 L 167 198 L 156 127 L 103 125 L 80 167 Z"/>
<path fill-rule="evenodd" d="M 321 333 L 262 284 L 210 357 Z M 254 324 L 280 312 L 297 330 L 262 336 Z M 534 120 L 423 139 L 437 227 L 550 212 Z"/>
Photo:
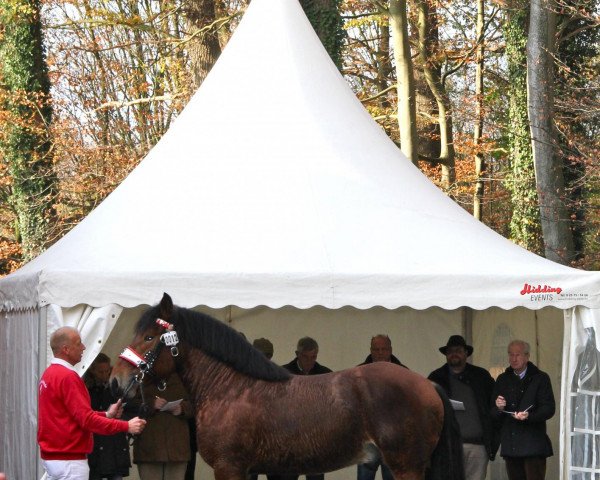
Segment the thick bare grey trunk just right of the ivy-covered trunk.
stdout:
<path fill-rule="evenodd" d="M 569 264 L 573 234 L 565 206 L 562 159 L 554 130 L 554 63 L 556 16 L 547 0 L 531 0 L 527 41 L 527 92 L 531 142 L 546 258 Z"/>

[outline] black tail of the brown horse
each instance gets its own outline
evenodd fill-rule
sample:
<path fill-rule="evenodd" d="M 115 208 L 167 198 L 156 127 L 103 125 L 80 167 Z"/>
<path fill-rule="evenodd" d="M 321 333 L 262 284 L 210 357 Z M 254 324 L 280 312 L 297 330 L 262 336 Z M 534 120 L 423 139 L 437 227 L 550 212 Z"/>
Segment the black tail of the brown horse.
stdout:
<path fill-rule="evenodd" d="M 426 480 L 465 480 L 460 427 L 448 395 L 437 383 L 434 383 L 434 386 L 444 404 L 444 425 L 425 478 Z"/>

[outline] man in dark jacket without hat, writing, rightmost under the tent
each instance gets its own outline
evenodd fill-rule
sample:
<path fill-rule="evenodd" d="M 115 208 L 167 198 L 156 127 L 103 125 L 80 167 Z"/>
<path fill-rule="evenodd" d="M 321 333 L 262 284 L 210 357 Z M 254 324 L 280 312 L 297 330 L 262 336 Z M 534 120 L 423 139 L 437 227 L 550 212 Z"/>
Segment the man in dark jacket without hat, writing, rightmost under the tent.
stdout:
<path fill-rule="evenodd" d="M 556 409 L 550 377 L 529 361 L 527 342 L 510 342 L 508 360 L 493 393 L 492 413 L 502 421 L 500 455 L 509 480 L 543 480 L 553 454 L 546 435 L 546 420 Z"/>

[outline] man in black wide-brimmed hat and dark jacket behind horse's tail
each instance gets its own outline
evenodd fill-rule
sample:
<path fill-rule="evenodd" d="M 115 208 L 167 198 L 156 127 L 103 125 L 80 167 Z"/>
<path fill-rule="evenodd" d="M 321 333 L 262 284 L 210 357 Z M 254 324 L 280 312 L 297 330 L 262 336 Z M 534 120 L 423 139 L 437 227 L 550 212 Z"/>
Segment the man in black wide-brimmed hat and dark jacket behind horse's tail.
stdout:
<path fill-rule="evenodd" d="M 439 350 L 446 356 L 446 364 L 428 378 L 456 401 L 453 406 L 463 441 L 466 480 L 484 480 L 488 461 L 498 450 L 490 412 L 494 379 L 486 369 L 467 363 L 473 347 L 462 336 L 452 335 Z"/>

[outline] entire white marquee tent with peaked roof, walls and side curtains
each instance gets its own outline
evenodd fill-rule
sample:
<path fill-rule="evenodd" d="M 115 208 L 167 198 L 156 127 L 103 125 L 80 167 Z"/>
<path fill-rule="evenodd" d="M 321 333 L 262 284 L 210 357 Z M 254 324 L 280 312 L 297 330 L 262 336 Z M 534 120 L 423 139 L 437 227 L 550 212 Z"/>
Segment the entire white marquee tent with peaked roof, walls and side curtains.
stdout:
<path fill-rule="evenodd" d="M 486 366 L 526 338 L 562 385 L 556 470 L 600 472 L 596 428 L 571 418 L 572 405 L 593 408 L 599 395 L 571 379 L 578 357 L 596 353 L 584 345 L 600 327 L 600 274 L 533 255 L 444 196 L 364 110 L 296 0 L 253 0 L 141 164 L 0 279 L 0 471 L 40 476 L 35 385 L 50 333 L 81 330 L 83 371 L 100 350 L 117 352 L 129 331 L 109 338 L 115 324 L 163 291 L 287 352 L 317 332 L 320 359 L 335 368 L 358 363 L 384 329 L 424 374 L 450 334 L 467 335 Z"/>

